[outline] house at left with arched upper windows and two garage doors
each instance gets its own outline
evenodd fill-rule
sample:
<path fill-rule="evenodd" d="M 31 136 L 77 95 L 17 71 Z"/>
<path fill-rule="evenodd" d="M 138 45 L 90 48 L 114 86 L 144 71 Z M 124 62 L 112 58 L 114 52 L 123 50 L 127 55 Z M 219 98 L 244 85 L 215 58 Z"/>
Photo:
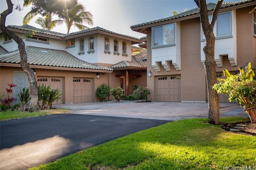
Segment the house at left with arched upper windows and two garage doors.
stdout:
<path fill-rule="evenodd" d="M 7 27 L 24 38 L 28 64 L 38 85 L 50 85 L 63 93 L 58 103 L 97 101 L 96 89 L 103 83 L 111 88 L 121 86 L 125 95 L 131 93 L 133 85 L 146 86 L 146 64 L 140 61 L 140 55 L 132 55 L 142 51 L 132 46 L 142 43 L 138 38 L 101 27 L 70 34 L 30 25 Z M 26 38 L 28 31 L 35 35 Z M 28 78 L 20 66 L 17 43 L 2 31 L 0 40 L 1 94 L 5 94 L 7 83 L 14 83 L 15 97 L 22 88 L 29 87 Z"/>

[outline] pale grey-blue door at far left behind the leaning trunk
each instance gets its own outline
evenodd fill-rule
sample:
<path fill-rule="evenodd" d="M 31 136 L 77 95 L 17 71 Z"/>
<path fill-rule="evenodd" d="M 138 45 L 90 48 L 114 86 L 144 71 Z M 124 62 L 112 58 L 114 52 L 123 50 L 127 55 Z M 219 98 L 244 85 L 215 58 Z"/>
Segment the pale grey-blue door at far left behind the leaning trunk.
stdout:
<path fill-rule="evenodd" d="M 13 97 L 17 98 L 22 88 L 29 88 L 28 76 L 25 72 L 14 72 L 14 84 L 17 86 L 13 88 Z M 20 100 L 14 101 L 14 104 L 20 103 Z"/>

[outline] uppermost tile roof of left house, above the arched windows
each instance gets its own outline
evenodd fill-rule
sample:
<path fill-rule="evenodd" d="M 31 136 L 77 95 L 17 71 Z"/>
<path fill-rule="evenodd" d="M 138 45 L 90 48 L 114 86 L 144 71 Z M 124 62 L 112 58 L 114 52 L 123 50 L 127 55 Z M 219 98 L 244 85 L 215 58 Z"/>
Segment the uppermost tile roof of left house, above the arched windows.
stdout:
<path fill-rule="evenodd" d="M 45 34 L 45 35 L 52 35 L 52 36 L 62 37 L 62 38 L 70 37 L 72 35 L 78 35 L 78 34 L 82 34 L 82 33 L 93 32 L 93 31 L 103 31 L 103 32 L 106 32 L 106 33 L 112 33 L 114 35 L 119 35 L 119 36 L 122 36 L 122 37 L 127 37 L 127 38 L 131 38 L 131 39 L 135 39 L 137 41 L 140 41 L 140 39 L 138 39 L 138 38 L 131 37 L 131 36 L 128 36 L 128 35 L 119 34 L 119 33 L 115 33 L 115 32 L 109 31 L 109 30 L 101 28 L 101 27 L 94 27 L 94 28 L 90 28 L 90 29 L 84 29 L 82 31 L 69 33 L 69 34 L 58 33 L 58 32 L 54 32 L 54 31 L 48 31 L 48 30 L 45 30 L 45 29 L 39 29 L 39 28 L 30 26 L 30 25 L 21 25 L 21 26 L 8 25 L 7 27 L 8 28 L 14 28 L 14 29 L 20 29 L 20 30 L 24 30 L 24 31 L 34 30 L 34 31 L 36 31 L 36 33 L 42 33 L 42 34 Z"/>

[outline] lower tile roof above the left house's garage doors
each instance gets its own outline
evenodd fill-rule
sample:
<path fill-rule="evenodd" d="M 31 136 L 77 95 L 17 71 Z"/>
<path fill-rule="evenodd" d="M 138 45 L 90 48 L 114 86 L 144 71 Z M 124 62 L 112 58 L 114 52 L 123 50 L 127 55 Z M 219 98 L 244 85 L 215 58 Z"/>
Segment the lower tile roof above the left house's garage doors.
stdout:
<path fill-rule="evenodd" d="M 28 56 L 28 64 L 42 65 L 42 66 L 56 66 L 66 68 L 84 68 L 92 70 L 109 70 L 112 68 L 97 66 L 95 64 L 82 61 L 70 53 L 61 50 L 46 49 L 39 47 L 26 46 L 26 53 Z M 0 55 L 1 63 L 17 63 L 20 64 L 19 50 L 10 52 L 8 54 Z M 63 69 L 64 69 L 63 68 Z"/>

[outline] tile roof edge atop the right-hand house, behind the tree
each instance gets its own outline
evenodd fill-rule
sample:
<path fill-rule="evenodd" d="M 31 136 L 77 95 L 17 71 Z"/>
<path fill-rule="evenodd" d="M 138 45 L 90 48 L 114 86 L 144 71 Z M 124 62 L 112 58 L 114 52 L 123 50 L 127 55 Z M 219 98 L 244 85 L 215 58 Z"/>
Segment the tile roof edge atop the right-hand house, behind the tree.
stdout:
<path fill-rule="evenodd" d="M 245 4 L 245 3 L 248 3 L 248 2 L 254 2 L 254 1 L 256 1 L 256 0 L 241 0 L 241 1 L 237 1 L 237 2 L 223 2 L 221 8 L 227 8 L 227 7 L 230 7 L 230 6 L 236 6 L 236 5 Z M 214 10 L 216 4 L 217 4 L 217 2 L 208 3 L 207 4 L 207 10 L 208 11 Z M 182 12 L 180 14 L 177 14 L 175 16 L 171 16 L 171 17 L 168 17 L 168 18 L 163 18 L 163 19 L 159 19 L 159 20 L 140 23 L 140 24 L 137 24 L 137 25 L 132 25 L 130 28 L 140 27 L 140 26 L 149 25 L 149 24 L 152 24 L 152 23 L 158 23 L 158 22 L 162 22 L 162 21 L 174 20 L 176 18 L 192 16 L 192 15 L 195 15 L 195 14 L 199 14 L 198 8 L 194 8 L 192 10 L 188 10 L 188 11 Z"/>

